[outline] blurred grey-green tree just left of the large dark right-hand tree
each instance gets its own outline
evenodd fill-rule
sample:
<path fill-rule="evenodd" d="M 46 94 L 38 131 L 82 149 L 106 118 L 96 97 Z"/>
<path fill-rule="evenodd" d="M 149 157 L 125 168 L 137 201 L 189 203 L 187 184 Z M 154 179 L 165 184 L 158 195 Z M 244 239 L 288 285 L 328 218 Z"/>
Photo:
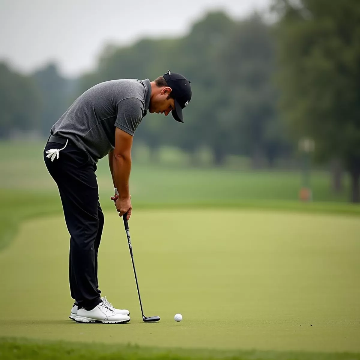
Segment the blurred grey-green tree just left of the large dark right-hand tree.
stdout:
<path fill-rule="evenodd" d="M 255 168 L 262 166 L 264 158 L 271 166 L 276 157 L 289 151 L 276 111 L 272 28 L 256 13 L 239 22 L 221 58 L 222 86 L 228 90 L 235 116 L 233 151 L 251 156 Z"/>

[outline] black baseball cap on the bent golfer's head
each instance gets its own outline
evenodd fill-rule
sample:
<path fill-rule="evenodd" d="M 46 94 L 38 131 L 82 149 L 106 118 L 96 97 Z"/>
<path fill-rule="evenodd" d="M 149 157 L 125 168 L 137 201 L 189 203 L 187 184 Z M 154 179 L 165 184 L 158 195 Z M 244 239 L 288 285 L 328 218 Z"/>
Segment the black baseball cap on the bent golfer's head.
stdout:
<path fill-rule="evenodd" d="M 171 87 L 171 95 L 175 99 L 175 110 L 171 114 L 176 121 L 184 122 L 183 109 L 191 100 L 190 81 L 183 75 L 171 72 L 170 70 L 163 77 L 167 85 Z"/>

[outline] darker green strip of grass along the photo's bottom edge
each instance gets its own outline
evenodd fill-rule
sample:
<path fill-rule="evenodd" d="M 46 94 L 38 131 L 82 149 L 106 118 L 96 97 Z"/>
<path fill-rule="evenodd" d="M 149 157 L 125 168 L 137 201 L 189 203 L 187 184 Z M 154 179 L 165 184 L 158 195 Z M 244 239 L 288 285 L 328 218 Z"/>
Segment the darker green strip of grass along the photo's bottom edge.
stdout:
<path fill-rule="evenodd" d="M 0 359 L 12 360 L 118 360 L 118 359 L 231 359 L 231 360 L 360 360 L 360 354 L 281 351 L 219 351 L 159 349 L 136 345 L 104 345 L 72 342 L 44 342 L 0 338 Z"/>

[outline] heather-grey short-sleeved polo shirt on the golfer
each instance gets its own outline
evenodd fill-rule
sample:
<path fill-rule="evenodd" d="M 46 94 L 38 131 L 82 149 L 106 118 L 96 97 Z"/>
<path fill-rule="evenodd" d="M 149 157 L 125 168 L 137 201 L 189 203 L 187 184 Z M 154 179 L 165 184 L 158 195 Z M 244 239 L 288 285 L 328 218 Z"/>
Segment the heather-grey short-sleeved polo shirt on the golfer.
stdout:
<path fill-rule="evenodd" d="M 51 135 L 72 140 L 97 162 L 114 149 L 115 127 L 134 136 L 146 115 L 150 80 L 111 80 L 80 95 L 51 128 Z"/>

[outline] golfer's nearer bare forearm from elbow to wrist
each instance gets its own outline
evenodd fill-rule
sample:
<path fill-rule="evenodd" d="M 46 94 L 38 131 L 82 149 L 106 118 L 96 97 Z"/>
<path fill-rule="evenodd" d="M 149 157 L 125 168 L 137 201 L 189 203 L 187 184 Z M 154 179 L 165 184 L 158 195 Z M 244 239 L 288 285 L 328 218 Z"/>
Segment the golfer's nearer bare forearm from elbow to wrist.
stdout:
<path fill-rule="evenodd" d="M 120 198 L 129 198 L 129 178 L 131 171 L 131 155 L 113 155 L 113 179 Z"/>

